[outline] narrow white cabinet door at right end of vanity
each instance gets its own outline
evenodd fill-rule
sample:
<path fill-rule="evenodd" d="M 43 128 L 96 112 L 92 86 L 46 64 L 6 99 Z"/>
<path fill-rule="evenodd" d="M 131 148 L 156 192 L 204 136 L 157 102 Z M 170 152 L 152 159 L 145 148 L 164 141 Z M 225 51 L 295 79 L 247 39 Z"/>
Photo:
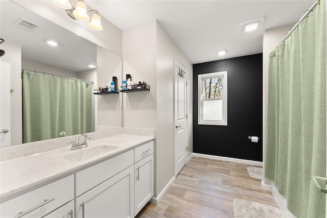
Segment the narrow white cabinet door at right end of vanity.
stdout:
<path fill-rule="evenodd" d="M 153 154 L 138 161 L 135 167 L 135 215 L 153 197 L 154 158 Z"/>

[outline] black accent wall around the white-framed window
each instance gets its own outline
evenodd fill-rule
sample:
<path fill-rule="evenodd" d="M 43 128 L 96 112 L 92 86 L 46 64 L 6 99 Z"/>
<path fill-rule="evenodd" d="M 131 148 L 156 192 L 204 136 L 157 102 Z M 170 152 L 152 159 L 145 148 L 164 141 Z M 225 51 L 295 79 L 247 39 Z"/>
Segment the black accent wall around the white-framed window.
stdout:
<path fill-rule="evenodd" d="M 227 126 L 198 125 L 198 75 L 227 71 Z M 262 54 L 193 65 L 193 152 L 262 161 Z"/>

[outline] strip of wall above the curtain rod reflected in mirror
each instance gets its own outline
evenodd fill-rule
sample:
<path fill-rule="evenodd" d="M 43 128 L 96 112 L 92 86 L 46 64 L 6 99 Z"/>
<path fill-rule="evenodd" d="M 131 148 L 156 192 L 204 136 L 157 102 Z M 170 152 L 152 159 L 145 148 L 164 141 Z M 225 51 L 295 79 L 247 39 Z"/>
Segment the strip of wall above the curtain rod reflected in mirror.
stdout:
<path fill-rule="evenodd" d="M 49 74 L 60 75 L 64 77 L 77 78 L 76 72 L 71 70 L 62 69 L 55 66 L 50 66 L 46 64 L 37 63 L 34 61 L 29 61 L 21 59 L 21 67 L 31 70 L 37 70 L 41 72 L 48 72 Z"/>

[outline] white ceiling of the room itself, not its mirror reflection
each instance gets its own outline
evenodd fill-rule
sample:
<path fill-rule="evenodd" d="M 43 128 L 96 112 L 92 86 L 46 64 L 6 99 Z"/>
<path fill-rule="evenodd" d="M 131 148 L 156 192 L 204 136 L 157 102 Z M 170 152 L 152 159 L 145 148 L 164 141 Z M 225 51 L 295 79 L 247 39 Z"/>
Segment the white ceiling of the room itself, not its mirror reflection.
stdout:
<path fill-rule="evenodd" d="M 158 19 L 192 63 L 258 54 L 263 32 L 297 22 L 307 1 L 86 1 L 121 30 Z M 263 26 L 241 33 L 241 23 L 264 17 Z M 227 50 L 224 56 L 218 51 Z"/>

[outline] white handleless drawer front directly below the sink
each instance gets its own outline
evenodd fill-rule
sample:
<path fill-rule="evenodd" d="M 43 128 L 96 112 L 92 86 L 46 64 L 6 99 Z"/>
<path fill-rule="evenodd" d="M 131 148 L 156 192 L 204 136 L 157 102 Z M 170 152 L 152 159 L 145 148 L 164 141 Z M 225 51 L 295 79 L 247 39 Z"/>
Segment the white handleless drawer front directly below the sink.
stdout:
<path fill-rule="evenodd" d="M 76 197 L 133 165 L 133 155 L 131 150 L 76 173 Z"/>

